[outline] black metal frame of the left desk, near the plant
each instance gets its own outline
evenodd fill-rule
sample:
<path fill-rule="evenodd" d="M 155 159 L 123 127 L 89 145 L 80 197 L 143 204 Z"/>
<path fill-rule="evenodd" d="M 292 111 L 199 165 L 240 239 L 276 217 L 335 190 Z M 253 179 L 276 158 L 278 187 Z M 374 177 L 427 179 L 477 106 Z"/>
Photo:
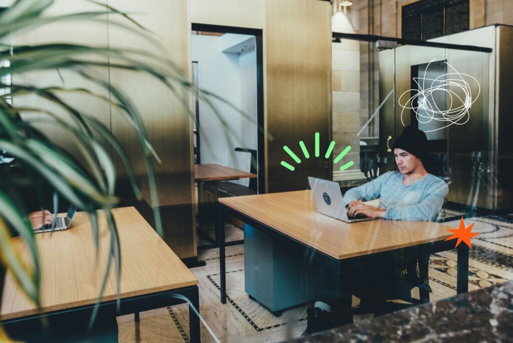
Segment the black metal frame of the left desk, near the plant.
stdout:
<path fill-rule="evenodd" d="M 148 311 L 148 310 L 154 310 L 159 309 L 163 307 L 173 306 L 173 305 L 180 305 L 180 304 L 186 304 L 188 301 L 176 297 L 176 295 L 184 296 L 185 298 L 189 299 L 189 332 L 190 332 L 190 341 L 191 343 L 201 341 L 200 336 L 200 318 L 198 315 L 196 315 L 196 311 L 200 313 L 200 295 L 198 286 L 189 286 L 189 287 L 183 287 L 179 289 L 173 289 L 169 291 L 162 291 L 162 292 L 156 292 L 156 293 L 150 293 L 150 294 L 143 294 L 143 295 L 137 295 L 132 296 L 128 298 L 123 298 L 120 301 L 120 311 L 117 311 L 117 301 L 116 300 L 109 300 L 109 301 L 103 301 L 100 304 L 100 309 L 98 310 L 98 316 L 102 316 L 102 318 L 106 317 L 112 317 L 115 318 L 116 316 L 120 315 L 126 315 L 126 314 L 134 314 L 135 315 L 135 321 L 139 321 L 139 312 Z M 70 317 L 73 318 L 73 321 L 76 319 L 77 323 L 80 323 L 81 325 L 89 322 L 91 313 L 94 308 L 94 304 L 92 305 L 86 305 L 86 306 L 80 306 L 80 307 L 74 307 L 66 310 L 57 310 L 52 312 L 46 312 L 41 314 L 34 314 L 24 317 L 18 317 L 18 318 L 12 318 L 12 319 L 6 319 L 1 322 L 1 324 L 4 326 L 4 328 L 9 332 L 9 334 L 12 334 L 12 332 L 16 331 L 22 331 L 23 334 L 26 334 L 27 332 L 33 332 L 41 330 L 41 318 L 46 316 L 48 318 L 52 317 L 66 317 L 67 321 L 70 321 Z M 52 327 L 49 328 L 50 331 L 54 330 L 55 328 Z M 69 328 L 66 328 L 69 329 Z M 93 329 L 94 330 L 94 329 Z M 59 336 L 59 330 L 54 330 L 55 335 Z M 63 338 L 63 337 L 61 337 Z"/>

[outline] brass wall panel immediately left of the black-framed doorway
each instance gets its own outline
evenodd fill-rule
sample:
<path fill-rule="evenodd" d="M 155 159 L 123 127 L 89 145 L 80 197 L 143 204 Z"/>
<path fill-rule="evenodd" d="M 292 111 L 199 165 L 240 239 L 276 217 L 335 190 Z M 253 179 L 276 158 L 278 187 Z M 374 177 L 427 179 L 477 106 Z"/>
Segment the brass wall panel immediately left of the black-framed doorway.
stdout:
<path fill-rule="evenodd" d="M 114 25 L 109 27 L 111 47 L 142 49 L 156 56 L 165 54 L 180 68 L 189 72 L 190 22 L 187 2 L 183 0 L 109 0 L 109 5 L 131 13 L 133 18 L 155 33 L 164 45 L 165 52 L 152 46 L 142 37 L 120 30 Z M 164 239 L 173 251 L 180 256 L 196 255 L 195 219 L 192 208 L 193 165 L 191 157 L 191 120 L 186 115 L 181 102 L 160 82 L 148 75 L 111 69 L 111 83 L 120 87 L 130 96 L 143 117 L 150 142 L 162 163 L 154 163 L 159 174 L 157 189 L 172 189 L 162 192 L 160 207 L 164 220 Z M 187 99 L 188 99 L 188 95 Z M 121 139 L 129 152 L 129 158 L 135 172 L 145 181 L 146 168 L 141 159 L 141 148 L 135 140 L 135 134 L 126 120 L 112 108 L 112 132 Z M 120 166 L 119 160 L 117 165 Z M 147 185 L 143 184 L 143 189 Z M 145 192 L 145 194 L 148 194 Z M 152 207 L 155 204 L 147 198 Z M 176 200 L 179 199 L 179 200 Z M 185 200 L 184 200 L 185 199 Z M 174 204 L 174 205 L 173 205 Z M 151 219 L 151 213 L 146 215 Z"/>

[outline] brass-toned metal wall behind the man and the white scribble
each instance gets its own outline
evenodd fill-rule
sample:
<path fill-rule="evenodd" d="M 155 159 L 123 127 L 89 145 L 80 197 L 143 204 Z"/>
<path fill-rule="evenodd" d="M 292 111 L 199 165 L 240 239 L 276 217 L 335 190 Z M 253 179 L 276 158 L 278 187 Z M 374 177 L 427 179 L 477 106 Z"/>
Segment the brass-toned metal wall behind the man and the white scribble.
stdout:
<path fill-rule="evenodd" d="M 456 42 L 451 41 L 450 43 Z M 424 65 L 433 59 L 446 60 L 458 72 L 475 77 L 480 84 L 479 88 L 464 77 L 469 82 L 472 100 L 475 100 L 469 109 L 469 120 L 464 125 L 451 125 L 443 129 L 447 139 L 447 174 L 444 175 L 449 184 L 447 200 L 462 205 L 492 208 L 495 192 L 492 176 L 494 149 L 490 144 L 489 129 L 494 125 L 489 116 L 490 53 L 401 46 L 394 51 L 381 51 L 379 56 L 380 100 L 383 100 L 387 94 L 386 90 L 392 80 L 396 83 L 395 104 L 384 106 L 380 116 L 380 151 L 385 153 L 382 155 L 385 158 L 382 159 L 381 173 L 395 169 L 393 156 L 391 153 L 385 152 L 387 137 L 392 136 L 390 140 L 390 145 L 392 145 L 393 140 L 403 131 L 403 123 L 405 126 L 410 124 L 410 110 L 408 109 L 404 110 L 403 123 L 401 122 L 402 107 L 399 105 L 399 98 L 411 88 L 411 78 L 415 77 L 415 75 L 411 75 L 411 66 Z M 447 66 L 446 72 L 453 73 L 455 71 Z M 459 89 L 450 90 L 461 92 Z M 480 91 L 479 97 L 477 97 L 478 91 Z M 412 95 L 407 93 L 402 98 L 403 104 Z M 446 101 L 449 102 L 449 99 L 447 98 Z M 447 124 L 440 123 L 437 127 Z"/>

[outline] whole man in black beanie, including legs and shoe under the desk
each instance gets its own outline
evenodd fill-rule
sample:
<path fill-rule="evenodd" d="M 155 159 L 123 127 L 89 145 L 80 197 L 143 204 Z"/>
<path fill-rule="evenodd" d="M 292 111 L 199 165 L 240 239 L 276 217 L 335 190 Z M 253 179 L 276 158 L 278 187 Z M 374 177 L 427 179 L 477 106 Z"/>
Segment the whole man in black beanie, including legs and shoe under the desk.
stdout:
<path fill-rule="evenodd" d="M 349 215 L 363 214 L 392 220 L 435 220 L 449 188 L 442 179 L 426 171 L 426 134 L 415 127 L 405 127 L 393 144 L 393 154 L 399 171 L 387 172 L 345 193 Z M 363 204 L 363 201 L 378 198 L 379 207 Z M 361 299 L 361 304 L 371 305 L 375 315 L 386 313 L 388 295 L 405 282 L 402 278 L 403 267 L 404 263 L 398 264 L 396 261 L 366 266 L 361 273 L 351 275 L 353 294 Z M 323 274 L 326 273 L 321 271 L 320 279 L 326 283 L 330 276 Z M 421 287 L 430 291 L 428 285 Z M 307 310 L 308 327 L 305 334 L 332 327 L 329 291 L 318 293 L 325 300 L 315 302 L 314 308 Z M 352 321 L 352 316 L 344 320 Z"/>

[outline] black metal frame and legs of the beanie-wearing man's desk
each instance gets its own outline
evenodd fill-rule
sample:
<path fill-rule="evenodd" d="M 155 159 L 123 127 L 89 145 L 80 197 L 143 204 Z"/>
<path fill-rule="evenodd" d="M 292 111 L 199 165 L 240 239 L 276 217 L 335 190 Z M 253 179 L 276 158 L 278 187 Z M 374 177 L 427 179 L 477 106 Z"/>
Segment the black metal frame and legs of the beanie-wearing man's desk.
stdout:
<path fill-rule="evenodd" d="M 380 261 L 384 258 L 404 258 L 404 257 L 418 257 L 420 255 L 433 254 L 442 251 L 448 251 L 455 249 L 455 241 L 435 241 L 431 243 L 409 246 L 405 248 L 399 248 L 389 251 L 372 253 L 364 256 L 351 257 L 347 259 L 338 260 L 327 254 L 324 254 L 302 242 L 296 240 L 278 230 L 261 223 L 254 218 L 243 214 L 233 208 L 218 203 L 217 219 L 216 219 L 216 235 L 219 239 L 219 259 L 220 259 L 220 287 L 221 287 L 221 302 L 226 304 L 226 258 L 225 258 L 225 236 L 224 236 L 224 217 L 225 215 L 234 216 L 244 223 L 258 229 L 267 235 L 271 236 L 272 239 L 277 241 L 278 244 L 291 249 L 292 251 L 300 252 L 304 256 L 308 256 L 312 261 L 315 261 L 319 265 L 329 268 L 340 275 L 340 292 L 337 294 L 340 306 L 338 308 L 343 311 L 341 318 L 348 318 L 351 307 L 351 293 L 348 291 L 347 275 L 348 272 L 358 269 L 363 264 L 369 264 L 372 261 Z M 457 277 L 457 293 L 468 292 L 468 246 L 460 244 L 458 246 L 458 277 Z M 345 312 L 344 312 L 345 311 Z"/>

